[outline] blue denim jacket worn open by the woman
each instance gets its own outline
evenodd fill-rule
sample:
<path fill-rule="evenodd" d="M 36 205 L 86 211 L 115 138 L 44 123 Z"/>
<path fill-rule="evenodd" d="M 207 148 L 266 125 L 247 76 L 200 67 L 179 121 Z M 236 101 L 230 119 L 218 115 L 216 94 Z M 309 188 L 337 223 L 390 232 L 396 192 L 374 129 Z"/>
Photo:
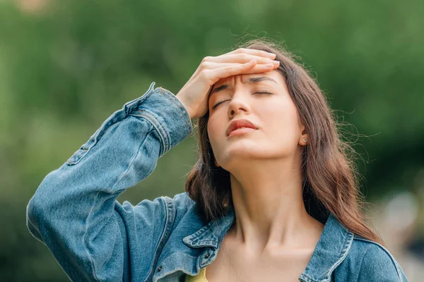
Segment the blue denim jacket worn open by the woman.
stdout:
<path fill-rule="evenodd" d="M 184 105 L 154 85 L 48 173 L 28 203 L 30 233 L 72 281 L 184 281 L 216 259 L 235 220 L 231 209 L 205 224 L 185 192 L 135 206 L 117 202 L 192 133 Z M 348 231 L 333 214 L 299 280 L 407 281 L 388 250 Z"/>

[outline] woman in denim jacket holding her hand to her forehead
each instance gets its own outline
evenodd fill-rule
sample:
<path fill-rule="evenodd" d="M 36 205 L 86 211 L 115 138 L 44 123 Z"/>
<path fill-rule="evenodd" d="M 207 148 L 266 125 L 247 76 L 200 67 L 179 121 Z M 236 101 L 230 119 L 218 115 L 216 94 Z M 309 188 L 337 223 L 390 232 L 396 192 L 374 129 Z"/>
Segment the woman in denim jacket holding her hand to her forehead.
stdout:
<path fill-rule="evenodd" d="M 28 204 L 30 232 L 69 278 L 407 281 L 365 224 L 326 99 L 288 52 L 252 41 L 207 56 L 176 96 L 154 84 Z M 192 133 L 192 118 L 201 153 L 187 192 L 119 204 Z"/>

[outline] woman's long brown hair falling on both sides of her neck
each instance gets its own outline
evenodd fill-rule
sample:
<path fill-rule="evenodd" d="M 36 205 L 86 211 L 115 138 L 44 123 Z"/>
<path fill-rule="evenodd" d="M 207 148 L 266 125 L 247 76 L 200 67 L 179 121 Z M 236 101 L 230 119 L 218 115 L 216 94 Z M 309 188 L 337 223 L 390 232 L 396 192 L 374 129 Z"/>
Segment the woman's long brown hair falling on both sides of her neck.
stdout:
<path fill-rule="evenodd" d="M 308 214 L 324 223 L 331 212 L 353 233 L 384 245 L 365 223 L 366 202 L 358 188 L 355 151 L 341 138 L 336 115 L 317 82 L 281 44 L 251 39 L 237 48 L 268 51 L 280 61 L 276 71 L 285 78 L 310 140 L 302 152 L 302 193 Z M 199 118 L 195 125 L 199 131 L 199 158 L 186 183 L 186 191 L 206 223 L 223 216 L 232 206 L 230 173 L 215 166 L 207 133 L 208 116 Z"/>

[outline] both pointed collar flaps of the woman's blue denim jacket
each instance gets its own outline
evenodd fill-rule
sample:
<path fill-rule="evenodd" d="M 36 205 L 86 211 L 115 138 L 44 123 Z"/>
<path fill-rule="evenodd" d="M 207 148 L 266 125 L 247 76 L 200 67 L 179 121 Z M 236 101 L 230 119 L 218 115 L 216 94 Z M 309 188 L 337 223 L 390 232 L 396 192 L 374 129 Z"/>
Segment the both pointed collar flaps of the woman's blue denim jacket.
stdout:
<path fill-rule="evenodd" d="M 235 221 L 232 207 L 228 214 L 209 222 L 198 231 L 183 238 L 184 244 L 190 247 L 219 248 L 225 234 Z M 324 229 L 319 236 L 310 262 L 300 279 L 307 282 L 330 281 L 331 274 L 338 264 L 343 262 L 353 243 L 353 233 L 341 224 L 334 214 L 330 213 Z"/>

